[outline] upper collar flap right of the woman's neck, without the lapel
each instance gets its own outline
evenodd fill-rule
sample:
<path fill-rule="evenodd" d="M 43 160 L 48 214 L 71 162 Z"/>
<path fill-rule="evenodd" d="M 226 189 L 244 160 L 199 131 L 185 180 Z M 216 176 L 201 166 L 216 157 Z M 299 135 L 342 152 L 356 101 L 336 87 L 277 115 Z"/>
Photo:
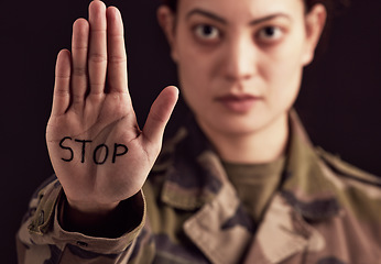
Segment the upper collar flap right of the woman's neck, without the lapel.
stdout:
<path fill-rule="evenodd" d="M 317 155 L 295 111 L 290 113 L 289 160 L 281 194 L 304 219 L 325 220 L 340 209 L 327 167 Z"/>

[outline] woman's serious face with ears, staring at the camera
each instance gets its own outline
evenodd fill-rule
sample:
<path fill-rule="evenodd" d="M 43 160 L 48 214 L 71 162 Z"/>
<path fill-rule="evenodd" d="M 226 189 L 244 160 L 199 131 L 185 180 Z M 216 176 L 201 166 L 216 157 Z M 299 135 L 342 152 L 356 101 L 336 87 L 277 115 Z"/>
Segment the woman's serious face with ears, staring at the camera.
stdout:
<path fill-rule="evenodd" d="M 302 0 L 179 0 L 175 16 L 172 56 L 203 129 L 246 134 L 286 117 L 317 41 Z"/>

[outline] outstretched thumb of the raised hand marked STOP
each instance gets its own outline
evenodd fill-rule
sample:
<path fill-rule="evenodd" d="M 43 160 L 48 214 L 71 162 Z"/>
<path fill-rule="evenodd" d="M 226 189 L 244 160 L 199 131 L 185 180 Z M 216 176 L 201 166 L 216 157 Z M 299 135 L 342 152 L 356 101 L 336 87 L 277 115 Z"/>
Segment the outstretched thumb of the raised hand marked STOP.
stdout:
<path fill-rule="evenodd" d="M 178 89 L 174 86 L 168 86 L 153 102 L 143 128 L 143 135 L 148 141 L 162 142 L 165 125 L 170 120 L 177 98 Z"/>

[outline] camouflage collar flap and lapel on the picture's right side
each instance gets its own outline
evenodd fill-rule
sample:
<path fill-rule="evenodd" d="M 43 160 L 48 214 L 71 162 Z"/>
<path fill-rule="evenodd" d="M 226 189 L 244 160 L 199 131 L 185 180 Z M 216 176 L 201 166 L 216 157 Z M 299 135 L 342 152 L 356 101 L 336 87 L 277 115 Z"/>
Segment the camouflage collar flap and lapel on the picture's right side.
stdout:
<path fill-rule="evenodd" d="M 322 251 L 325 239 L 311 223 L 340 216 L 327 167 L 294 111 L 290 113 L 290 130 L 282 186 L 266 210 L 244 263 L 273 264 L 306 250 Z"/>

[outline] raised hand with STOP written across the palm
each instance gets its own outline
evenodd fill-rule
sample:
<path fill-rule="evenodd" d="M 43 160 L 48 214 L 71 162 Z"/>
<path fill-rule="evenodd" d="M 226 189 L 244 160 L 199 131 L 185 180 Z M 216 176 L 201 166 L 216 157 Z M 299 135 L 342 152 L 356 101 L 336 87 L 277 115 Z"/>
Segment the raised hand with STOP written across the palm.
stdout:
<path fill-rule="evenodd" d="M 63 50 L 57 56 L 46 129 L 52 164 L 72 208 L 107 212 L 141 189 L 177 94 L 175 87 L 165 88 L 139 129 L 120 12 L 92 1 L 89 21 L 78 19 L 73 25 L 72 53 Z"/>

